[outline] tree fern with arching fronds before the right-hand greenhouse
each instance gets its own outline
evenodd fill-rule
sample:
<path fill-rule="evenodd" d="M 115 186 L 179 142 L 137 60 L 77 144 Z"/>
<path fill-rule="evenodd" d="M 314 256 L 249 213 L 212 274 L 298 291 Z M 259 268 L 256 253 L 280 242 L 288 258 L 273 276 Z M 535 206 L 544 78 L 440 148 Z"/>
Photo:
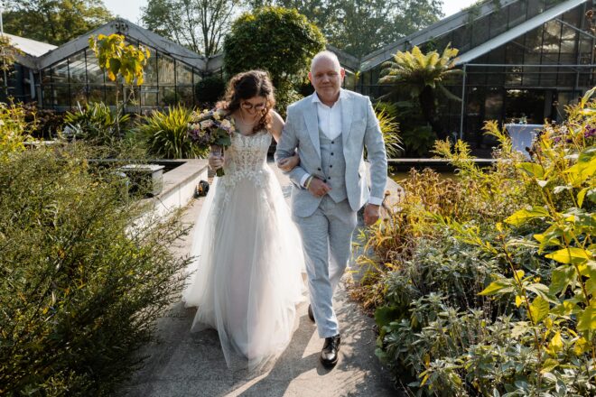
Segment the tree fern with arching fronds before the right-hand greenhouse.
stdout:
<path fill-rule="evenodd" d="M 388 96 L 407 90 L 413 98 L 417 98 L 424 119 L 441 139 L 446 137 L 447 132 L 442 131 L 436 119 L 435 91 L 439 88 L 448 98 L 461 101 L 442 85 L 445 79 L 461 74 L 460 69 L 454 69 L 458 52 L 451 43 L 447 44 L 442 55 L 437 51 L 424 54 L 417 46 L 412 51 L 397 51 L 393 60 L 383 64 L 383 77 L 378 80 L 381 84 L 393 86 Z"/>

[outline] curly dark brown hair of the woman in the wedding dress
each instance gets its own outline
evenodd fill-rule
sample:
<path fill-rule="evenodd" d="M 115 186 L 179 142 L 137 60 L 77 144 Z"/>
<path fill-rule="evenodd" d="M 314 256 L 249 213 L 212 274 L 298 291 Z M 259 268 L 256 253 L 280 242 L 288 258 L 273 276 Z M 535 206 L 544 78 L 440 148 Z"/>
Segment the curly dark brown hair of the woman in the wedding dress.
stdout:
<path fill-rule="evenodd" d="M 265 97 L 265 109 L 261 119 L 253 128 L 253 133 L 263 128 L 270 129 L 272 117 L 269 110 L 275 106 L 274 87 L 269 74 L 263 70 L 249 70 L 230 78 L 226 97 L 216 107 L 227 110 L 228 115 L 231 115 L 240 108 L 242 100 L 251 97 Z"/>

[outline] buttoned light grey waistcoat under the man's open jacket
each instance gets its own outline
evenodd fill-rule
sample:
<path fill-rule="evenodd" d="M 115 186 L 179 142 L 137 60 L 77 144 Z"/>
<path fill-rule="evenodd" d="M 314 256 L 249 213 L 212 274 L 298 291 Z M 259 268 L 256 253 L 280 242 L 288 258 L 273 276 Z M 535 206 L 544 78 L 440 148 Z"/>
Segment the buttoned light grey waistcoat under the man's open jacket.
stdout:
<path fill-rule="evenodd" d="M 348 198 L 346 191 L 346 159 L 343 157 L 343 143 L 341 134 L 329 139 L 319 128 L 319 143 L 321 144 L 321 166 L 325 175 L 325 182 L 331 186 L 328 193 L 333 201 L 339 203 Z"/>

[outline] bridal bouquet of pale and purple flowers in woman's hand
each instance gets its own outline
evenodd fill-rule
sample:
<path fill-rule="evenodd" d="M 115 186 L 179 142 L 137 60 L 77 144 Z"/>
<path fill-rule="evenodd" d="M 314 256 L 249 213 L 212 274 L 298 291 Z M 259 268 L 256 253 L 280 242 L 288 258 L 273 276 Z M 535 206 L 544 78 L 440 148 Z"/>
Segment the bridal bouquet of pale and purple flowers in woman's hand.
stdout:
<path fill-rule="evenodd" d="M 191 141 L 200 147 L 210 146 L 211 152 L 217 155 L 223 155 L 223 148 L 232 143 L 231 134 L 234 131 L 234 120 L 227 117 L 226 111 L 222 109 L 194 112 L 188 125 Z M 225 173 L 220 168 L 216 174 L 221 177 Z"/>

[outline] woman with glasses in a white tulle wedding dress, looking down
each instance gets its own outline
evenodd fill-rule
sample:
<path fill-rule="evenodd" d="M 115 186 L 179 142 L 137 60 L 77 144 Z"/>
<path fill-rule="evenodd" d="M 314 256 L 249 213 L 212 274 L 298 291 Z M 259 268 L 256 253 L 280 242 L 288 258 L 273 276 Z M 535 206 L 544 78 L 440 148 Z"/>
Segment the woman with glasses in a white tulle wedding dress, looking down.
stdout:
<path fill-rule="evenodd" d="M 189 272 L 182 292 L 197 307 L 191 331 L 215 328 L 228 367 L 263 369 L 289 344 L 295 305 L 303 300 L 303 251 L 284 195 L 266 164 L 272 135 L 284 121 L 273 110 L 274 88 L 260 70 L 240 73 L 218 104 L 236 123 L 223 166 L 195 225 Z M 280 168 L 292 170 L 293 156 Z"/>

